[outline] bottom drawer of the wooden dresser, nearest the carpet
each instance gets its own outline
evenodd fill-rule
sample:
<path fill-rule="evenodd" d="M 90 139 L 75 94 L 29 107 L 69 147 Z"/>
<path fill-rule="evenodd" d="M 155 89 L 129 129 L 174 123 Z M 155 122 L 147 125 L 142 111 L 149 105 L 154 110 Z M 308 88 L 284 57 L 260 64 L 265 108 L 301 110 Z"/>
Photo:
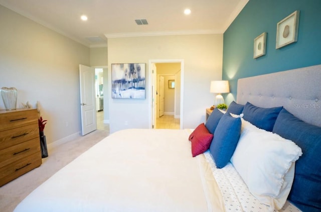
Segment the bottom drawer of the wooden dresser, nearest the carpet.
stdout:
<path fill-rule="evenodd" d="M 41 165 L 39 152 L 0 168 L 0 186 Z"/>

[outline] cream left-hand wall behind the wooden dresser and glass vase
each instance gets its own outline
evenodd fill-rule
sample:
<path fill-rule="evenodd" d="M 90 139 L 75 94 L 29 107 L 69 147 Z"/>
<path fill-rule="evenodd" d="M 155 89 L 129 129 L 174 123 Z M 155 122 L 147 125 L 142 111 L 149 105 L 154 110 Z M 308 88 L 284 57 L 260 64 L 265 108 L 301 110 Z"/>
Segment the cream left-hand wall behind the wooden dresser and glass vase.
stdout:
<path fill-rule="evenodd" d="M 48 143 L 78 134 L 79 64 L 89 65 L 89 48 L 3 6 L 0 28 L 0 87 L 18 89 L 18 108 L 39 101 Z"/>

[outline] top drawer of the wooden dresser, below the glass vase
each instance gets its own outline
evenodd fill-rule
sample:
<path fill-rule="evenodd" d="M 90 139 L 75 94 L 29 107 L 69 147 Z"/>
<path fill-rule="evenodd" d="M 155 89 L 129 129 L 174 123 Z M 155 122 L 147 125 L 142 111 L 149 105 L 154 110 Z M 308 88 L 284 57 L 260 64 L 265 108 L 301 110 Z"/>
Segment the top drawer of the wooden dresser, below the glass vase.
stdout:
<path fill-rule="evenodd" d="M 17 128 L 28 124 L 38 124 L 36 109 L 17 109 L 0 112 L 0 131 Z"/>

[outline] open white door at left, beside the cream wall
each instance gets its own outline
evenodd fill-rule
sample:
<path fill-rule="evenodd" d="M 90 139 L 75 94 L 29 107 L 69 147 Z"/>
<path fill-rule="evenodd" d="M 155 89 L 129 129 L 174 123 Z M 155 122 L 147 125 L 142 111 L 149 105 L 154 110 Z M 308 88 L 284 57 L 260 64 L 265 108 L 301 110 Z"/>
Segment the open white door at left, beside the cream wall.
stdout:
<path fill-rule="evenodd" d="M 95 69 L 79 65 L 81 134 L 86 135 L 97 129 Z"/>

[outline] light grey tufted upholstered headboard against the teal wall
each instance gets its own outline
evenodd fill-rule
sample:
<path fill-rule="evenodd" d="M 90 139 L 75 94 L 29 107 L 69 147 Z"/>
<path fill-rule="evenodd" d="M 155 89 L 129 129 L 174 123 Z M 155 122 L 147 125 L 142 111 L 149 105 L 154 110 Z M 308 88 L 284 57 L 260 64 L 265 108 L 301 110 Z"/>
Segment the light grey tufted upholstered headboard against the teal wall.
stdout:
<path fill-rule="evenodd" d="M 321 65 L 238 80 L 237 103 L 283 106 L 301 120 L 321 126 Z"/>

